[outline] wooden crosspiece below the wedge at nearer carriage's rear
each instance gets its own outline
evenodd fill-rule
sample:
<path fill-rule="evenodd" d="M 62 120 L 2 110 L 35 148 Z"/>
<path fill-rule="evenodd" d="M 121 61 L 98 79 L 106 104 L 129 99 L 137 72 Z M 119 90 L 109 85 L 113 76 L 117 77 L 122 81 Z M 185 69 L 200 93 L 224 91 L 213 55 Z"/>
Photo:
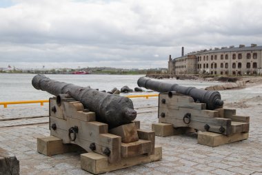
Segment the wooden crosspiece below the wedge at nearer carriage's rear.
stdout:
<path fill-rule="evenodd" d="M 121 157 L 128 158 L 139 156 L 141 154 L 151 154 L 151 141 L 139 139 L 131 143 L 121 143 Z"/>

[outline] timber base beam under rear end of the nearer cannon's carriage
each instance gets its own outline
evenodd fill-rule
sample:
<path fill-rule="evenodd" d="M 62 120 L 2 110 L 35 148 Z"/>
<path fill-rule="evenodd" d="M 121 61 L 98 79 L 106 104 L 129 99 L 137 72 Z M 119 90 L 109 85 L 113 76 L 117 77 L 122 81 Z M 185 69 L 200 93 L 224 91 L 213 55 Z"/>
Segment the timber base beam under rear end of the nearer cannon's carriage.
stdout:
<path fill-rule="evenodd" d="M 91 172 L 92 174 L 101 174 L 142 163 L 159 161 L 162 158 L 162 147 L 155 147 L 154 153 L 155 154 L 150 156 L 142 154 L 131 158 L 121 158 L 121 161 L 118 163 L 108 163 L 108 158 L 106 156 L 90 152 L 81 154 L 81 169 Z"/>

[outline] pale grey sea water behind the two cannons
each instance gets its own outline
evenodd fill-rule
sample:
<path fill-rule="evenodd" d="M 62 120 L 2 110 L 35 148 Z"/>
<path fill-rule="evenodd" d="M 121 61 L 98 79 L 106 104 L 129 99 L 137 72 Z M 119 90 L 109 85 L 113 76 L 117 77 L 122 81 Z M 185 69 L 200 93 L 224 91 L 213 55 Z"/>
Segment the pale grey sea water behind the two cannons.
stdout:
<path fill-rule="evenodd" d="M 28 101 L 49 99 L 52 94 L 36 90 L 31 84 L 35 74 L 0 74 L 0 101 Z M 119 90 L 128 85 L 129 88 L 138 87 L 137 80 L 145 75 L 111 75 L 111 74 L 47 74 L 50 79 L 73 83 L 82 87 L 90 85 L 91 88 L 110 91 L 113 88 Z M 216 81 L 199 80 L 177 80 L 163 79 L 157 80 L 167 83 L 178 83 L 179 85 L 192 86 L 195 88 L 205 88 L 210 85 L 219 85 Z M 145 90 L 145 89 L 143 89 Z M 262 94 L 262 86 L 245 88 L 242 90 L 220 91 L 222 99 L 226 102 L 240 101 Z M 155 92 L 132 92 L 128 94 L 154 94 Z M 127 94 L 121 94 L 127 95 Z"/>

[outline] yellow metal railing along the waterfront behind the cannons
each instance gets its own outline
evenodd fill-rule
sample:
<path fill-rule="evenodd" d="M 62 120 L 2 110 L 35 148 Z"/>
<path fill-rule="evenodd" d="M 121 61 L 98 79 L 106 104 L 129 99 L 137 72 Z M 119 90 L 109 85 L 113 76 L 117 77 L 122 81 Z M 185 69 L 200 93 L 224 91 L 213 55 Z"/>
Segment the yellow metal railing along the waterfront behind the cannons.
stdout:
<path fill-rule="evenodd" d="M 128 98 L 141 98 L 145 97 L 145 99 L 148 99 L 152 96 L 159 96 L 159 94 L 144 94 L 144 95 L 128 95 L 126 97 Z M 27 103 L 40 103 L 40 105 L 43 105 L 43 103 L 49 103 L 49 100 L 38 100 L 38 101 L 3 101 L 0 102 L 0 105 L 3 105 L 4 108 L 8 107 L 8 105 L 17 105 L 17 104 L 27 104 Z"/>

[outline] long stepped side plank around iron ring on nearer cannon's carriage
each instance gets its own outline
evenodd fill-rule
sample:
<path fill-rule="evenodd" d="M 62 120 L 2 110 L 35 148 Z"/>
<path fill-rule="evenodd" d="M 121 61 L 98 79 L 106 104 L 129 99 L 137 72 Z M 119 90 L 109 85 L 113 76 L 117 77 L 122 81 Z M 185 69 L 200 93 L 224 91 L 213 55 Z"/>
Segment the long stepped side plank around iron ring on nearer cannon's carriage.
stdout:
<path fill-rule="evenodd" d="M 92 121 L 84 122 L 77 119 L 68 118 L 68 120 L 58 119 L 50 116 L 50 123 L 56 123 L 57 130 L 50 130 L 51 135 L 57 136 L 63 139 L 63 143 L 77 144 L 88 152 L 90 150 L 90 144 L 96 145 L 96 150 L 99 154 L 103 154 L 103 151 L 108 147 L 111 154 L 108 158 L 110 162 L 119 161 L 121 158 L 121 137 L 113 134 L 108 134 L 108 125 L 105 123 Z M 68 130 L 70 127 L 77 126 L 79 132 L 75 141 L 70 141 L 68 137 Z"/>

